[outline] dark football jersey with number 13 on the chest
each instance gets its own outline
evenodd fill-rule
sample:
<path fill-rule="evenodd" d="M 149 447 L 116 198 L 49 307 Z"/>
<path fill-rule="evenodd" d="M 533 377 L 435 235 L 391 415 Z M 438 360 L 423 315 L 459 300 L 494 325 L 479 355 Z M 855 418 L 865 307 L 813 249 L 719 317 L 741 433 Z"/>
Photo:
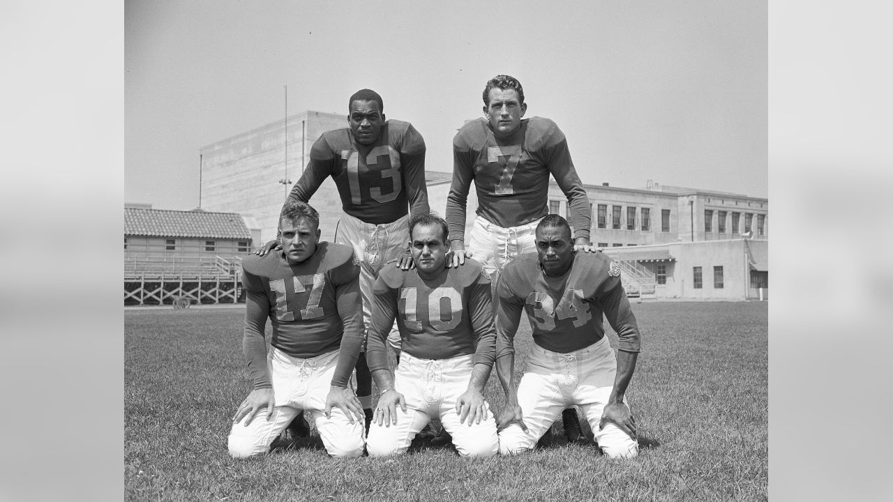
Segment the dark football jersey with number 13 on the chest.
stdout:
<path fill-rule="evenodd" d="M 409 122 L 386 121 L 372 145 L 357 143 L 350 128 L 323 132 L 288 197 L 309 202 L 329 176 L 344 212 L 363 222 L 395 222 L 407 204 L 413 215 L 429 213 L 425 142 Z"/>

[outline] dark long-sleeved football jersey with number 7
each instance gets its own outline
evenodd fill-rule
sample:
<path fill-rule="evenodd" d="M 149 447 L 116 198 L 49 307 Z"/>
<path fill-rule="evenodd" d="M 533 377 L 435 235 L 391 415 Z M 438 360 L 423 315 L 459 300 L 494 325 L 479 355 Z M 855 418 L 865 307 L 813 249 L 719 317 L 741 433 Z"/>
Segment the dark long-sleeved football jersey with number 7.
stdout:
<path fill-rule="evenodd" d="M 477 213 L 503 228 L 548 213 L 549 174 L 568 198 L 574 237 L 589 238 L 589 201 L 571 161 L 564 133 L 554 121 L 523 119 L 509 138 L 497 138 L 488 121 L 466 123 L 453 139 L 453 185 L 447 196 L 450 238 L 463 239 L 465 205 L 472 180 Z"/>

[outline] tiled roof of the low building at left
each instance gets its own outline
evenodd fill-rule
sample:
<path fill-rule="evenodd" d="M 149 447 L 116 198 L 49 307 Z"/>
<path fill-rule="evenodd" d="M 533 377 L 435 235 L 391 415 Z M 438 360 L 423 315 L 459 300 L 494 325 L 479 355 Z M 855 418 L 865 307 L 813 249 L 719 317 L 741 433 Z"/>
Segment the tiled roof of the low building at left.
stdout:
<path fill-rule="evenodd" d="M 185 238 L 251 238 L 238 213 L 124 208 L 124 235 Z"/>

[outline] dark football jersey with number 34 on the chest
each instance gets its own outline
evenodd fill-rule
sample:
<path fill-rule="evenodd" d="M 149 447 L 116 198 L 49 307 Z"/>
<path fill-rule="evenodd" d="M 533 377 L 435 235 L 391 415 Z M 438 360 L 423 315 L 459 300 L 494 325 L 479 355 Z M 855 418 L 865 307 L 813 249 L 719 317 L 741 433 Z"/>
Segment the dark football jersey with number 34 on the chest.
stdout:
<path fill-rule="evenodd" d="M 602 253 L 577 253 L 571 270 L 547 276 L 535 253 L 505 266 L 497 283 L 497 357 L 513 352 L 511 339 L 522 309 L 533 341 L 554 352 L 588 347 L 605 336 L 602 314 L 620 339 L 619 349 L 638 352 L 639 332 L 623 291 L 620 266 Z"/>

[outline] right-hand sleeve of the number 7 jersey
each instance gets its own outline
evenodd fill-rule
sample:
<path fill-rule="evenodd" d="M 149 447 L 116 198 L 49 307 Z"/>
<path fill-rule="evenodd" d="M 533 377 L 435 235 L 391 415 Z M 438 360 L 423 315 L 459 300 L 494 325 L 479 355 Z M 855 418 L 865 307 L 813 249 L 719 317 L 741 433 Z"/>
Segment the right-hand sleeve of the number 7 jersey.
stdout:
<path fill-rule="evenodd" d="M 553 124 L 554 125 L 554 124 Z M 573 229 L 573 237 L 589 239 L 589 228 L 592 224 L 592 215 L 589 212 L 589 198 L 583 182 L 577 175 L 571 160 L 571 150 L 567 146 L 567 138 L 564 133 L 554 125 L 551 133 L 545 138 L 544 150 L 549 172 L 555 177 L 558 187 L 567 197 L 568 223 Z"/>

